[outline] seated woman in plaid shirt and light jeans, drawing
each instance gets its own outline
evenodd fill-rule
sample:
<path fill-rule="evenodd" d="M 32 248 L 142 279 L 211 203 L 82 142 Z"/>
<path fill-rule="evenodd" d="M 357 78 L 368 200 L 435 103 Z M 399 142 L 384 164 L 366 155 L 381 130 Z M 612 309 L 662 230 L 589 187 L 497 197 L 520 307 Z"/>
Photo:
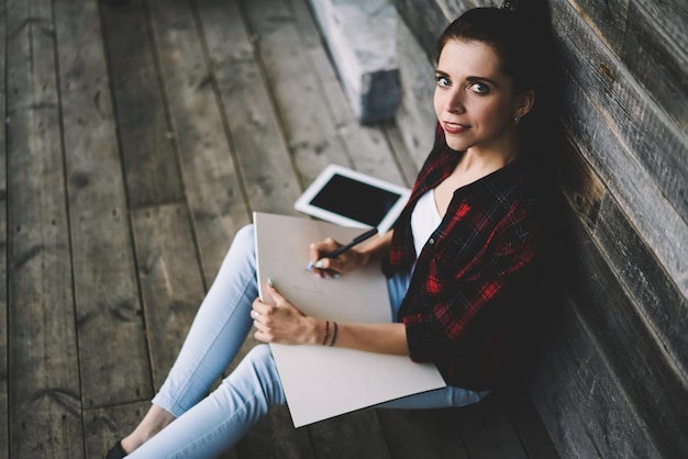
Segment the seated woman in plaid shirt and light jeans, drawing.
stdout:
<path fill-rule="evenodd" d="M 432 361 L 447 388 L 380 407 L 447 407 L 509 385 L 529 355 L 546 232 L 537 208 L 548 25 L 507 8 L 475 9 L 439 41 L 435 144 L 392 231 L 334 259 L 312 244 L 315 272 L 382 260 L 397 323 L 334 324 L 300 313 L 271 286 L 257 300 L 253 228 L 241 229 L 175 366 L 144 419 L 108 454 L 206 458 L 234 445 L 285 395 L 268 346 L 255 347 L 210 395 L 251 326 L 263 343 L 324 345 Z M 542 29 L 542 31 L 541 31 Z M 539 49 L 541 52 L 539 52 Z M 537 113 L 537 112 L 541 113 Z M 545 152 L 547 153 L 547 152 Z M 202 400 L 201 400 L 202 399 Z M 173 422 L 174 421 L 174 422 Z"/>

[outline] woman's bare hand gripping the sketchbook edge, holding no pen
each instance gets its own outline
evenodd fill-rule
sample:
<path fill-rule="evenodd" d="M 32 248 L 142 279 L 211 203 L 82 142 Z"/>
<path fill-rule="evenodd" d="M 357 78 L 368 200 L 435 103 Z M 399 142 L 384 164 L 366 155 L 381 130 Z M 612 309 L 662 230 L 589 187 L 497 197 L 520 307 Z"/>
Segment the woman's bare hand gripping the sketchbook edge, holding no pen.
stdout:
<path fill-rule="evenodd" d="M 269 283 L 265 284 L 264 292 L 274 305 L 264 303 L 259 298 L 253 302 L 251 317 L 256 327 L 255 338 L 263 343 L 289 345 L 314 343 L 315 320 L 299 311 Z"/>

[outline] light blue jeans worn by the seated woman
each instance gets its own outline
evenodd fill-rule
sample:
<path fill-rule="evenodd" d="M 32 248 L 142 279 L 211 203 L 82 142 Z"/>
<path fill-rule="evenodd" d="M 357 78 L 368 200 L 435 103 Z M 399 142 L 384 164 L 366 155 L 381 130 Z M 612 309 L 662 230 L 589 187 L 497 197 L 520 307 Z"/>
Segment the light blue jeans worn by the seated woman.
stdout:
<path fill-rule="evenodd" d="M 392 309 L 399 307 L 409 276 L 389 280 Z M 270 348 L 254 347 L 208 396 L 248 334 L 258 295 L 253 226 L 237 232 L 220 272 L 203 300 L 189 334 L 153 403 L 175 419 L 131 458 L 213 458 L 236 444 L 285 394 Z M 395 314 L 396 316 L 396 314 Z M 384 403 L 379 407 L 439 408 L 478 402 L 487 392 L 444 388 Z"/>

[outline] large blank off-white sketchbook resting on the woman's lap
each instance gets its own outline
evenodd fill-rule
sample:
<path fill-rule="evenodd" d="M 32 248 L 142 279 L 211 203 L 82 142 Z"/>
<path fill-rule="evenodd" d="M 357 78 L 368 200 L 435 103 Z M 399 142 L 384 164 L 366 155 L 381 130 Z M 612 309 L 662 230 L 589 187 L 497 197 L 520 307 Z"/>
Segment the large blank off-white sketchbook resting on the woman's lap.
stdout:
<path fill-rule="evenodd" d="M 270 278 L 308 315 L 340 323 L 392 322 L 379 267 L 336 280 L 304 271 L 310 243 L 329 236 L 347 243 L 360 228 L 257 212 L 254 225 L 260 298 Z M 434 365 L 406 356 L 307 345 L 270 348 L 295 427 L 446 385 Z"/>

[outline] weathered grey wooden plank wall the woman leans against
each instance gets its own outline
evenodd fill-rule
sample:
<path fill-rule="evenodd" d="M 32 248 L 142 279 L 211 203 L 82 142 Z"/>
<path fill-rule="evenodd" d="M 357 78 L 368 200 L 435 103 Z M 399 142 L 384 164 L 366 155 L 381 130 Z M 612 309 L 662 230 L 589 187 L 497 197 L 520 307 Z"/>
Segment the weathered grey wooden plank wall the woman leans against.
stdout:
<path fill-rule="evenodd" d="M 432 92 L 437 33 L 486 3 L 396 4 L 398 123 L 412 147 L 432 122 L 418 100 Z M 565 66 L 573 258 L 532 398 L 562 457 L 688 457 L 688 4 L 550 5 Z"/>

